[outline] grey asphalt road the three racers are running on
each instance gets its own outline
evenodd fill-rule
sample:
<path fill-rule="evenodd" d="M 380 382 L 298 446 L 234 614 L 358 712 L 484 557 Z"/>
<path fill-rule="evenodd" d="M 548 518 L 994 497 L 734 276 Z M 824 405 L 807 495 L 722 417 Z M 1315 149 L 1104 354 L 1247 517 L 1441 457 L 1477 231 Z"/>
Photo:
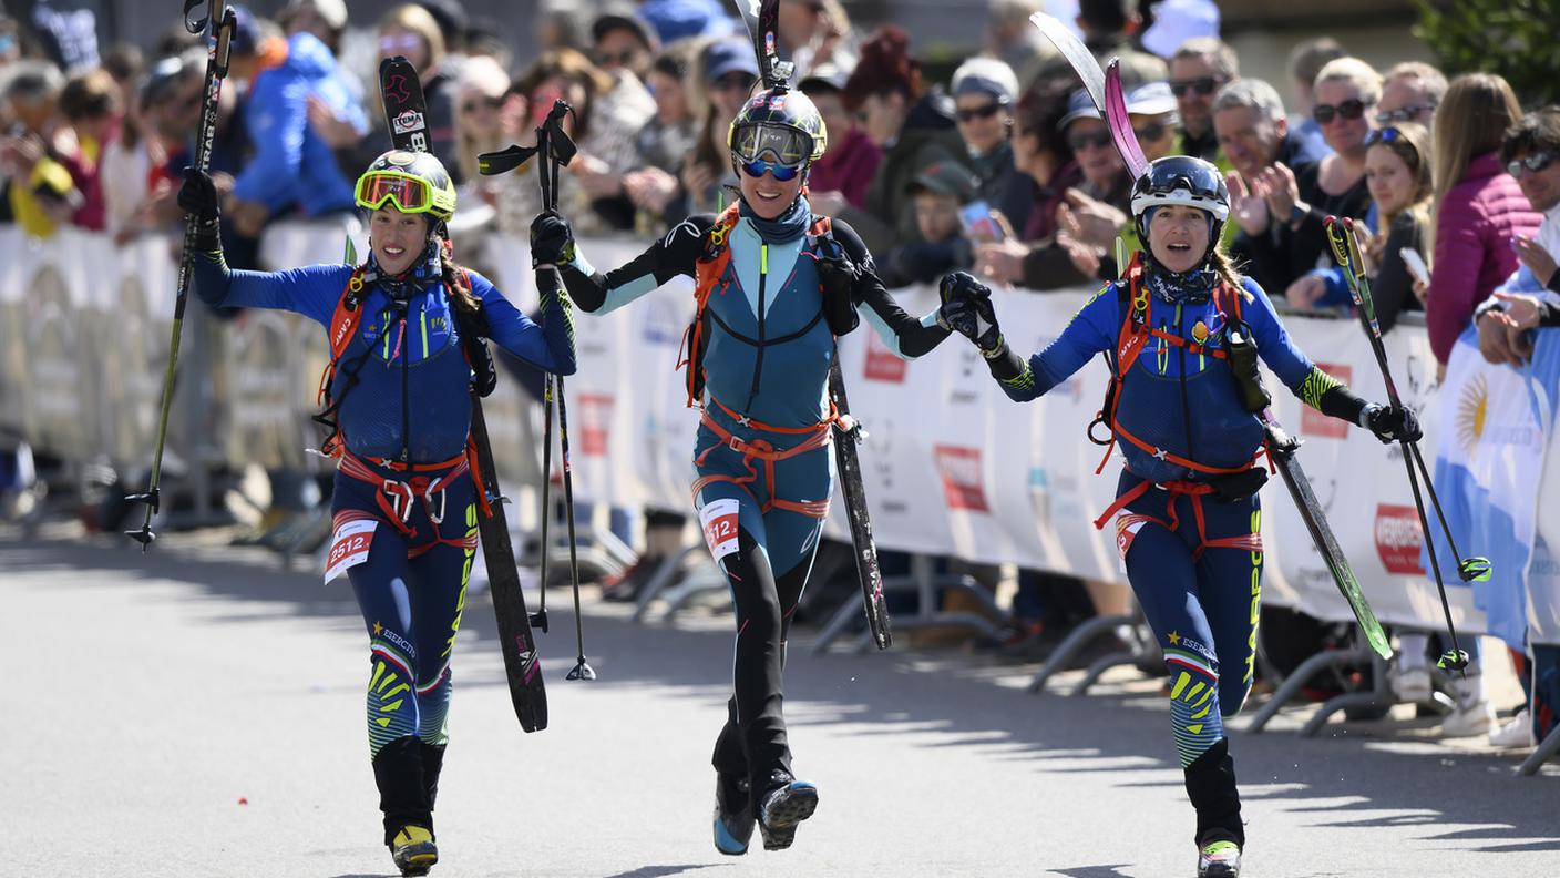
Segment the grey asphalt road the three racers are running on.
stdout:
<path fill-rule="evenodd" d="M 710 842 L 730 634 L 587 606 L 596 683 L 543 641 L 552 725 L 521 734 L 487 597 L 468 601 L 438 800 L 445 876 L 1190 876 L 1158 684 L 1028 697 L 1025 669 L 956 651 L 792 650 L 796 767 L 822 800 L 796 847 Z M 0 533 L 6 875 L 393 875 L 379 845 L 343 584 L 198 537 L 150 555 Z M 1560 875 L 1560 766 L 1443 744 L 1426 723 L 1285 712 L 1236 733 L 1250 878 Z"/>

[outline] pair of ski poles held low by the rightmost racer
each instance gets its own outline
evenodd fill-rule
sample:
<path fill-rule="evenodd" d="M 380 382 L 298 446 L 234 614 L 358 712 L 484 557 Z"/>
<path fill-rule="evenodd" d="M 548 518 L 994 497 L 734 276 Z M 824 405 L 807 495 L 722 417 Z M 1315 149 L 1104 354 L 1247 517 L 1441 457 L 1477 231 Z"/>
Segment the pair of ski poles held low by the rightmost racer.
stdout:
<path fill-rule="evenodd" d="M 1332 250 L 1332 258 L 1343 267 L 1343 278 L 1348 283 L 1349 294 L 1354 298 L 1354 309 L 1359 312 L 1360 325 L 1365 330 L 1365 336 L 1370 339 L 1371 353 L 1376 356 L 1376 366 L 1381 369 L 1382 381 L 1387 386 L 1387 400 L 1398 408 L 1402 408 L 1402 398 L 1398 395 L 1398 384 L 1392 380 L 1392 367 L 1387 362 L 1387 347 L 1381 341 L 1381 322 L 1376 319 L 1376 300 L 1371 295 L 1370 278 L 1365 277 L 1365 262 L 1360 259 L 1359 239 L 1354 236 L 1354 220 L 1343 217 L 1328 217 L 1326 219 L 1328 245 Z M 1446 514 L 1441 511 L 1440 497 L 1435 495 L 1435 484 L 1431 480 L 1429 469 L 1424 466 L 1424 458 L 1420 455 L 1418 442 L 1402 441 L 1402 466 L 1409 473 L 1409 489 L 1413 492 L 1413 506 L 1420 514 L 1420 530 L 1424 534 L 1424 542 L 1429 548 L 1431 556 L 1431 572 L 1435 575 L 1435 589 L 1441 598 L 1441 612 L 1446 617 L 1446 633 L 1451 637 L 1452 648 L 1441 655 L 1437 661 L 1437 667 L 1445 670 L 1465 670 L 1468 667 L 1468 653 L 1462 648 L 1457 641 L 1457 626 L 1452 623 L 1452 608 L 1451 601 L 1446 598 L 1446 583 L 1441 576 L 1440 559 L 1437 558 L 1435 542 L 1431 536 L 1431 520 L 1424 511 L 1424 497 L 1420 492 L 1420 478 L 1424 480 L 1424 494 L 1429 494 L 1431 505 L 1435 508 L 1435 516 L 1441 525 L 1441 534 L 1446 537 L 1446 545 L 1451 548 L 1452 556 L 1457 559 L 1457 575 L 1465 581 L 1485 581 L 1493 572 L 1488 558 L 1463 558 L 1457 550 L 1457 542 L 1452 537 L 1451 525 L 1446 522 Z M 1418 467 L 1418 472 L 1415 472 Z"/>

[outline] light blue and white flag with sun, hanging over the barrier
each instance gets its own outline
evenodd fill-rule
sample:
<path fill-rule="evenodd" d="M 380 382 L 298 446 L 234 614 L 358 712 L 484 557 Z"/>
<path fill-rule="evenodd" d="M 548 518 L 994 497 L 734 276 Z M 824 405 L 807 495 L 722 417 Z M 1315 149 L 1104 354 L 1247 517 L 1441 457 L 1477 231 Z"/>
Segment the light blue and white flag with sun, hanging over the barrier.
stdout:
<path fill-rule="evenodd" d="M 1474 605 L 1488 616 L 1488 633 L 1518 650 L 1527 631 L 1527 569 L 1560 384 L 1560 337 L 1552 330 L 1537 336 L 1533 358 L 1512 369 L 1485 362 L 1476 330 L 1463 331 L 1446 362 L 1435 448 L 1435 492 L 1457 548 L 1484 555 L 1494 567 L 1490 581 L 1473 583 Z M 1457 583 L 1457 561 L 1435 536 L 1441 575 Z M 1431 569 L 1427 558 L 1421 562 Z"/>

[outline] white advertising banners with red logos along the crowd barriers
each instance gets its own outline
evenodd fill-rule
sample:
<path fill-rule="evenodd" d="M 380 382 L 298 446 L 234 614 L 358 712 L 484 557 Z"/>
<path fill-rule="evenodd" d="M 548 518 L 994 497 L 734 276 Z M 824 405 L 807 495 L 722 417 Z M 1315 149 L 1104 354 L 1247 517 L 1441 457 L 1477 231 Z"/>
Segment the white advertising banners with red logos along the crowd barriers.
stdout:
<path fill-rule="evenodd" d="M 278 267 L 334 262 L 343 231 L 278 227 L 262 252 Z M 362 241 L 357 247 L 365 252 Z M 626 239 L 582 242 L 604 270 L 643 247 Z M 145 239 L 115 250 L 101 236 L 80 231 L 39 244 L 0 230 L 0 427 L 73 459 L 144 461 L 154 439 L 176 283 L 167 242 Z M 535 312 L 535 277 L 523 242 L 488 239 L 485 250 L 473 253 L 473 262 L 505 295 Z M 677 278 L 613 314 L 576 312 L 580 367 L 566 380 L 566 400 L 574 489 L 582 501 L 691 512 L 690 461 L 699 417 L 685 406 L 683 375 L 675 369 L 693 316 L 691 289 L 690 280 Z M 1005 334 L 1023 353 L 1041 350 L 1090 292 L 997 291 Z M 895 297 L 913 316 L 936 305 L 930 287 Z M 192 302 L 190 308 L 203 306 Z M 1285 325 L 1312 359 L 1362 397 L 1384 398 L 1357 323 L 1287 317 Z M 324 362 L 324 334 L 296 316 L 262 312 L 220 331 L 225 344 L 212 373 L 184 372 L 186 381 L 214 381 L 212 405 L 222 414 L 203 419 L 200 430 L 217 433 L 204 439 L 232 462 L 300 466 L 306 461 L 301 448 L 318 444 L 307 416 Z M 1441 419 L 1424 330 L 1393 330 L 1387 350 L 1399 391 L 1420 411 L 1424 448 L 1434 450 Z M 853 414 L 869 433 L 861 447 L 863 480 L 881 548 L 1125 581 L 1114 531 L 1092 523 L 1115 497 L 1122 466 L 1114 455 L 1095 475 L 1104 448 L 1086 434 L 1104 394 L 1103 359 L 1041 400 L 1017 405 L 961 339 L 906 362 L 863 323 L 841 339 L 839 358 Z M 495 458 L 505 484 L 535 486 L 540 409 L 519 381 L 502 370 L 499 378 L 485 403 Z M 1271 375 L 1268 386 L 1279 420 L 1304 439 L 1299 461 L 1376 614 L 1438 628 L 1440 600 L 1420 567 L 1423 534 L 1399 450 L 1304 409 Z M 178 434 L 181 425 L 173 428 Z M 1560 547 L 1560 476 L 1546 469 L 1544 478 L 1538 536 Z M 1329 620 L 1349 619 L 1282 483 L 1271 480 L 1262 500 L 1267 598 Z M 828 531 L 847 539 L 841 512 L 835 503 Z M 1460 548 L 1477 553 L 1477 547 Z M 1484 630 L 1468 587 L 1452 576 L 1448 592 L 1459 630 Z M 1560 562 L 1543 547 L 1530 587 L 1535 639 L 1560 642 Z"/>

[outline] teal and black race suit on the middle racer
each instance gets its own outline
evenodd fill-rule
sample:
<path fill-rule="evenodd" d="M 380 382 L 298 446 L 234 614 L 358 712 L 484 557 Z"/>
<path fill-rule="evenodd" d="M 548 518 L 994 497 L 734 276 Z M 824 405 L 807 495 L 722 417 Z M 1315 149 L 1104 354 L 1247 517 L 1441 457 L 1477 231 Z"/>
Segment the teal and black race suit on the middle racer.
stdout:
<path fill-rule="evenodd" d="M 825 386 L 835 331 L 819 266 L 835 245 L 856 267 L 850 309 L 866 305 L 867 322 L 899 356 L 920 356 L 948 336 L 936 312 L 919 322 L 905 314 L 856 233 L 813 217 L 805 197 L 775 220 L 741 202 L 721 217 L 693 216 L 607 273 L 577 250 L 558 266 L 569 297 L 591 312 L 621 308 L 677 275 L 708 287 L 690 330 L 704 350 L 690 366 L 704 378 L 693 505 L 736 605 L 735 694 L 713 762 L 725 776 L 749 778 L 755 798 L 775 772 L 791 775 L 785 641 L 833 491 L 838 417 Z"/>

